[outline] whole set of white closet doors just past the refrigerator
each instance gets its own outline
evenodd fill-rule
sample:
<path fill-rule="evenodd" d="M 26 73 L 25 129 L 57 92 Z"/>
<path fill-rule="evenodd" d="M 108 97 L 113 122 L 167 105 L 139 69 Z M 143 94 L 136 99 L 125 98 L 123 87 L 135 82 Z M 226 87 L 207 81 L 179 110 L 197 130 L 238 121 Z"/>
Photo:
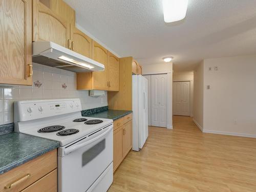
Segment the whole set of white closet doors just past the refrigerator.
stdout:
<path fill-rule="evenodd" d="M 151 125 L 167 126 L 167 74 L 151 75 Z"/>

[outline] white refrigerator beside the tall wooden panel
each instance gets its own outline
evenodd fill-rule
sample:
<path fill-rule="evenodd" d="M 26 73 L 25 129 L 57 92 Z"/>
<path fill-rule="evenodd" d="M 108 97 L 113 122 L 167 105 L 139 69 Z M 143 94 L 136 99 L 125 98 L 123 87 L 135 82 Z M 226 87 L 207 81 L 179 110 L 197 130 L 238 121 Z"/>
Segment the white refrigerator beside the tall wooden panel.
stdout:
<path fill-rule="evenodd" d="M 133 75 L 133 150 L 139 151 L 148 136 L 147 79 Z"/>

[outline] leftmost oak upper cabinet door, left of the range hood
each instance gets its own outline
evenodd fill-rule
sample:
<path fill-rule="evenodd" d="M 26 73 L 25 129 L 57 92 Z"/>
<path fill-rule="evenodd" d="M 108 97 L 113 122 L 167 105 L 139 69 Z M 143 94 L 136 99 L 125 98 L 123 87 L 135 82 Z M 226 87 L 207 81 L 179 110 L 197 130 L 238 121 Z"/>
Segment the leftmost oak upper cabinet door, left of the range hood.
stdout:
<path fill-rule="evenodd" d="M 0 1 L 0 83 L 32 84 L 32 0 Z"/>

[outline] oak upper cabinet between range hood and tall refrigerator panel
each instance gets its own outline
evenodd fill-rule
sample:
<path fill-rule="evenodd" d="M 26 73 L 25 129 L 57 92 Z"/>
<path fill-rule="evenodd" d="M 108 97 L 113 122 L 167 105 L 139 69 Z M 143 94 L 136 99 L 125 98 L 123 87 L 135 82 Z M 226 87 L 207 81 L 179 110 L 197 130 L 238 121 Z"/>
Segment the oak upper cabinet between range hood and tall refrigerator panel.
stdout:
<path fill-rule="evenodd" d="M 77 90 L 119 91 L 119 58 L 92 40 L 92 59 L 102 63 L 105 69 L 77 73 Z"/>

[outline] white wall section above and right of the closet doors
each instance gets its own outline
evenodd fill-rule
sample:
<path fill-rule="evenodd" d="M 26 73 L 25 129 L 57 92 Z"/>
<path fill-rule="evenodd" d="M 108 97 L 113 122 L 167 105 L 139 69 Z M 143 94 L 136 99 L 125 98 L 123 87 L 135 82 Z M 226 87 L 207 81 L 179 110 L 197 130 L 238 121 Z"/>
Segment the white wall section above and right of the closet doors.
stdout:
<path fill-rule="evenodd" d="M 142 74 L 167 73 L 167 128 L 173 129 L 173 63 L 160 63 L 142 66 Z"/>

